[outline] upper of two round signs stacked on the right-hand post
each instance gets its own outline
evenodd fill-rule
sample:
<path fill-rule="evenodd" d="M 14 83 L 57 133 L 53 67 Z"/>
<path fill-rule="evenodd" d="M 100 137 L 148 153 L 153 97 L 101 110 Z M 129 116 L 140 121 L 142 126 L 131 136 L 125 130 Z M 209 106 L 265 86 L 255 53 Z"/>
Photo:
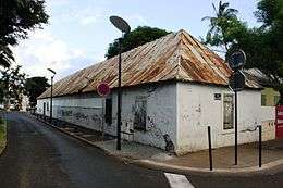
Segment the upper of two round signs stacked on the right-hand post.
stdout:
<path fill-rule="evenodd" d="M 246 63 L 246 54 L 243 50 L 233 52 L 229 59 L 229 66 L 233 71 L 241 70 Z"/>

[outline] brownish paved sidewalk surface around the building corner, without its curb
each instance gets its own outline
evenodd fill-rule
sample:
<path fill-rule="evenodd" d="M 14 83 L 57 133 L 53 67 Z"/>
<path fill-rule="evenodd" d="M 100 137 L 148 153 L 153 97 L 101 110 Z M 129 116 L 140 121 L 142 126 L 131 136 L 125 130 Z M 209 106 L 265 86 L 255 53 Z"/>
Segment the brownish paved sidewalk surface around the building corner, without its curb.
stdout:
<path fill-rule="evenodd" d="M 188 153 L 184 156 L 176 156 L 163 150 L 139 145 L 136 142 L 122 142 L 122 150 L 115 149 L 115 140 L 95 142 L 95 146 L 106 150 L 108 153 L 127 158 L 131 160 L 150 161 L 157 164 L 188 167 L 192 170 L 202 168 L 208 171 L 208 150 Z M 225 147 L 212 150 L 214 170 L 244 170 L 258 168 L 258 147 L 257 143 L 238 146 L 238 164 L 234 165 L 234 147 Z M 283 159 L 283 140 L 271 140 L 262 142 L 262 166 Z M 267 167 L 267 166 L 266 166 Z M 234 171 L 235 172 L 235 171 Z"/>

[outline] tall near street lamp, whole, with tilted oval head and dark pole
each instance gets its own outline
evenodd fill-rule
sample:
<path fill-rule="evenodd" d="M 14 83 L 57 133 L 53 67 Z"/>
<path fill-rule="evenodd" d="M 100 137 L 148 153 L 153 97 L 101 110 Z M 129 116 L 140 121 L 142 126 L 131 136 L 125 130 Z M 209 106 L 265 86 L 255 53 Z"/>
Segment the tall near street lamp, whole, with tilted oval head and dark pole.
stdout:
<path fill-rule="evenodd" d="M 122 32 L 122 37 L 119 38 L 119 74 L 118 74 L 118 111 L 116 111 L 116 150 L 121 150 L 121 101 L 122 101 L 122 89 L 121 89 L 121 62 L 122 62 L 122 38 L 125 34 L 130 33 L 131 27 L 123 18 L 119 16 L 110 16 L 110 22 Z"/>

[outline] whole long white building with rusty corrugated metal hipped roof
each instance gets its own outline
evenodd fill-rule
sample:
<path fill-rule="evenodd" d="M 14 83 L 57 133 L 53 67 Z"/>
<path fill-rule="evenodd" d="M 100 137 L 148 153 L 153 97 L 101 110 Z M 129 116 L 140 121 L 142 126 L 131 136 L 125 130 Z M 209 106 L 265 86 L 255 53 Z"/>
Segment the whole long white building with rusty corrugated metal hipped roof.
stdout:
<path fill-rule="evenodd" d="M 169 34 L 122 54 L 122 138 L 176 154 L 234 145 L 234 95 L 227 86 L 231 70 L 224 61 L 185 30 Z M 111 95 L 96 92 L 107 82 Z M 81 70 L 54 84 L 54 118 L 116 134 L 118 57 Z M 261 86 L 253 79 L 238 93 L 238 142 L 273 135 L 273 108 L 261 108 Z M 50 88 L 37 101 L 37 113 L 50 115 Z M 104 118 L 103 118 L 104 117 Z M 264 135 L 264 133 L 263 133 Z"/>

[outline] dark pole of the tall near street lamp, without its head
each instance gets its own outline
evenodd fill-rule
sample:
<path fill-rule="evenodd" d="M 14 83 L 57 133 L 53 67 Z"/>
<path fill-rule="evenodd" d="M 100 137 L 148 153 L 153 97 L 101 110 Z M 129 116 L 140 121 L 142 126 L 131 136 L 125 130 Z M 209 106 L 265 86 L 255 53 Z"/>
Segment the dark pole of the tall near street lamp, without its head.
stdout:
<path fill-rule="evenodd" d="M 121 89 L 121 40 L 119 39 L 119 75 L 118 75 L 118 110 L 116 110 L 116 150 L 121 150 L 121 100 L 122 100 L 122 89 Z"/>

